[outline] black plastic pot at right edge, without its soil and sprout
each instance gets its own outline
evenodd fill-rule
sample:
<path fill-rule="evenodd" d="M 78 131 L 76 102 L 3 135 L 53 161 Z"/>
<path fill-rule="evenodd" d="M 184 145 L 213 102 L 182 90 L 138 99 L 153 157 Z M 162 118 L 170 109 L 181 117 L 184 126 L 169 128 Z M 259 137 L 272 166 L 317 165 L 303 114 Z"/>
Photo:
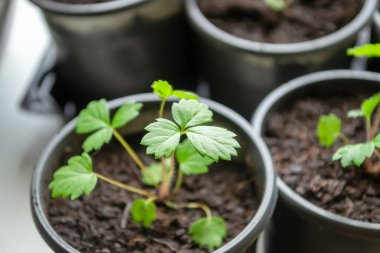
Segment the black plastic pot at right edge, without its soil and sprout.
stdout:
<path fill-rule="evenodd" d="M 267 116 L 305 97 L 329 97 L 380 90 L 380 74 L 333 70 L 294 79 L 271 92 L 252 118 L 262 133 Z M 380 224 L 361 222 L 328 212 L 302 198 L 277 179 L 279 201 L 264 233 L 266 253 L 380 252 Z"/>

